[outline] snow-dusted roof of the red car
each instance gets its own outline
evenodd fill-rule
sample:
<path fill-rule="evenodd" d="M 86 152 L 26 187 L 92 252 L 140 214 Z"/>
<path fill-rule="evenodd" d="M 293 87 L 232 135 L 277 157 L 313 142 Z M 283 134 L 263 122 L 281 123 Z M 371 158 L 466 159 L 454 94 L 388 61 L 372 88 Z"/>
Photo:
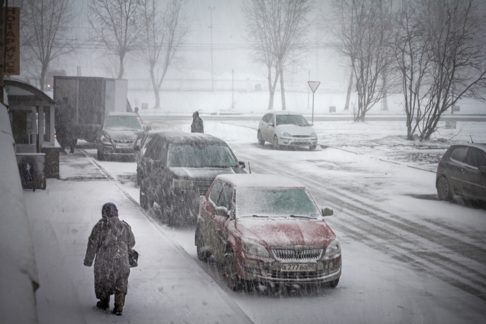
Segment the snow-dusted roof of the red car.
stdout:
<path fill-rule="evenodd" d="M 216 179 L 234 187 L 305 188 L 301 182 L 279 175 L 258 173 L 220 174 Z"/>

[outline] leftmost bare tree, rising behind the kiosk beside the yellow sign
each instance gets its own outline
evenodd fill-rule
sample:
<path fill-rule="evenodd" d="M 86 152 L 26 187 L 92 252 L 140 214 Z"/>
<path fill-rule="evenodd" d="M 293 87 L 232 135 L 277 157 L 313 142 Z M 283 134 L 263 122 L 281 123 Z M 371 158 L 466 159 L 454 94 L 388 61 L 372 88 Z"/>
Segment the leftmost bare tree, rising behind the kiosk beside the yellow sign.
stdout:
<path fill-rule="evenodd" d="M 40 74 L 40 89 L 44 91 L 46 72 L 55 58 L 68 54 L 77 48 L 72 33 L 72 19 L 75 17 L 71 0 L 24 0 L 14 2 L 21 5 L 21 48 L 23 58 L 34 63 L 31 71 Z M 25 63 L 25 62 L 24 62 Z"/>

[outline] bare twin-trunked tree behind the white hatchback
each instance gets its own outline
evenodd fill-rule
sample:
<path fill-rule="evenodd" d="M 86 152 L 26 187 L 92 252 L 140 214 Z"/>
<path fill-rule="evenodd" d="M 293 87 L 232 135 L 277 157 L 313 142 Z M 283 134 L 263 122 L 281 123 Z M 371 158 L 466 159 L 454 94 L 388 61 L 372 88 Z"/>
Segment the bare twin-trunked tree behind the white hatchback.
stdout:
<path fill-rule="evenodd" d="M 282 110 L 285 110 L 284 71 L 307 51 L 305 44 L 312 3 L 308 0 L 247 0 L 242 9 L 248 39 L 254 47 L 254 59 L 265 64 L 268 70 L 268 109 L 273 108 L 280 79 Z M 272 75 L 272 69 L 275 69 L 275 75 Z"/>

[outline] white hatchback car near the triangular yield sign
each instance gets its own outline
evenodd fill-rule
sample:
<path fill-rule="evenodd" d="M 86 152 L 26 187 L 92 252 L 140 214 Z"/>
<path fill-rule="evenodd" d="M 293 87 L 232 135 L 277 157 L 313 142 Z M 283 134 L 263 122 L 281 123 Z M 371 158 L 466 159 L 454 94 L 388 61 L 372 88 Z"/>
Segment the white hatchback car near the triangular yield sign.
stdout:
<path fill-rule="evenodd" d="M 268 113 L 258 125 L 258 143 L 272 143 L 275 149 L 281 146 L 309 146 L 315 150 L 317 134 L 304 116 L 287 111 Z"/>

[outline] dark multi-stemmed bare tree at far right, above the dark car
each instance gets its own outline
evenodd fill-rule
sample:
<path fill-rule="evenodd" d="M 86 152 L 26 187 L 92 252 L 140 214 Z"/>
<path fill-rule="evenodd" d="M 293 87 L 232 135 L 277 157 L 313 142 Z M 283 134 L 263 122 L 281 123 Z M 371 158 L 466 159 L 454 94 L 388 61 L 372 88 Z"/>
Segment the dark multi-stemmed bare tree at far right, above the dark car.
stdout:
<path fill-rule="evenodd" d="M 404 2 L 396 57 L 407 112 L 407 138 L 428 140 L 442 114 L 462 98 L 485 101 L 485 21 L 468 0 Z"/>

